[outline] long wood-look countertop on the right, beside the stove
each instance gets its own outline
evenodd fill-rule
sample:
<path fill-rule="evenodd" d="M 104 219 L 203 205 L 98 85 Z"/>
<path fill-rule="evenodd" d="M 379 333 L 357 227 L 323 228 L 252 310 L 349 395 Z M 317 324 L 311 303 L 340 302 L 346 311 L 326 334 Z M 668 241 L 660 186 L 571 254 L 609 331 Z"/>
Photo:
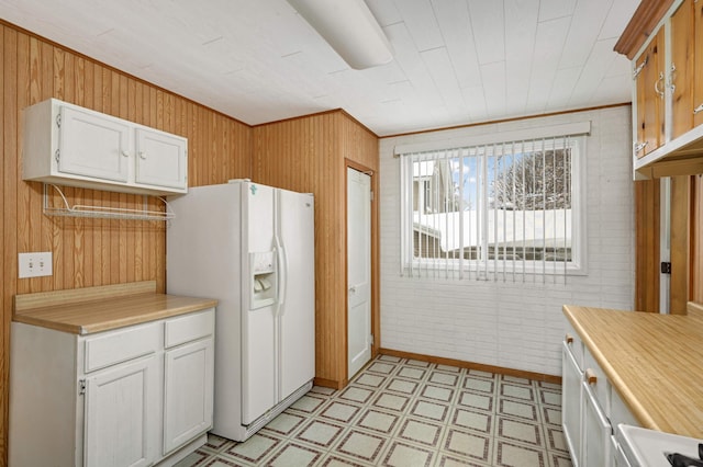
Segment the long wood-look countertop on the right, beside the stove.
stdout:
<path fill-rule="evenodd" d="M 703 309 L 658 315 L 580 306 L 563 314 L 644 428 L 703 438 Z"/>

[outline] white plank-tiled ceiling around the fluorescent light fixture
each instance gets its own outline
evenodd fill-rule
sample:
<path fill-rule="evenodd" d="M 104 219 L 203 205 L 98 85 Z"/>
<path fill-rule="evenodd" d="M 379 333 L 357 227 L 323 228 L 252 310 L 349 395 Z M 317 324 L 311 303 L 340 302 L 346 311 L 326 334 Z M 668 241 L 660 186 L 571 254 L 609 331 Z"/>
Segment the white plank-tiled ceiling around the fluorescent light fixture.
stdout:
<path fill-rule="evenodd" d="M 331 1 L 331 0 L 321 0 Z M 0 18 L 249 125 L 344 109 L 379 136 L 631 101 L 638 0 L 366 0 L 349 68 L 286 0 L 0 0 Z"/>

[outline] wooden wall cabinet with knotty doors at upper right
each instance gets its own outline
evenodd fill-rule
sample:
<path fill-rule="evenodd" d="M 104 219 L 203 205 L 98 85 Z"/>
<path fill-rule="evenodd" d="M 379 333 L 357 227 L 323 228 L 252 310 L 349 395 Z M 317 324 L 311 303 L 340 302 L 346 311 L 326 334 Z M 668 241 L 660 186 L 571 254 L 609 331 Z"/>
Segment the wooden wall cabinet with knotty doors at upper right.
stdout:
<path fill-rule="evenodd" d="M 673 1 L 634 53 L 635 179 L 703 173 L 702 14 L 700 1 Z"/>

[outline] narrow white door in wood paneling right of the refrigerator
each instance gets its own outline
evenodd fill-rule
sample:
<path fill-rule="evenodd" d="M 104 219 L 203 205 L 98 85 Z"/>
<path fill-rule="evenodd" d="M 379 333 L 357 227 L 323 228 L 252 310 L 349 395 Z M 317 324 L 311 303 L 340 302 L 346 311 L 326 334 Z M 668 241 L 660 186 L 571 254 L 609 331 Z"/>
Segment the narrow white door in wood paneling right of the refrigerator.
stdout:
<path fill-rule="evenodd" d="M 347 168 L 347 377 L 371 358 L 371 178 Z"/>

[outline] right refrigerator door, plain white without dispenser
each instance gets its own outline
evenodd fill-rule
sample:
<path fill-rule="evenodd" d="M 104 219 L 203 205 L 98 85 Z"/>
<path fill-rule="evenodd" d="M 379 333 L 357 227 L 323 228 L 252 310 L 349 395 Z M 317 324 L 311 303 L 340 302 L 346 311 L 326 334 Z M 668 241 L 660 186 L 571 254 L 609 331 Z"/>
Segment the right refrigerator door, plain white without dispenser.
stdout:
<path fill-rule="evenodd" d="M 279 310 L 279 399 L 315 376 L 314 201 L 278 191 L 282 300 Z"/>

